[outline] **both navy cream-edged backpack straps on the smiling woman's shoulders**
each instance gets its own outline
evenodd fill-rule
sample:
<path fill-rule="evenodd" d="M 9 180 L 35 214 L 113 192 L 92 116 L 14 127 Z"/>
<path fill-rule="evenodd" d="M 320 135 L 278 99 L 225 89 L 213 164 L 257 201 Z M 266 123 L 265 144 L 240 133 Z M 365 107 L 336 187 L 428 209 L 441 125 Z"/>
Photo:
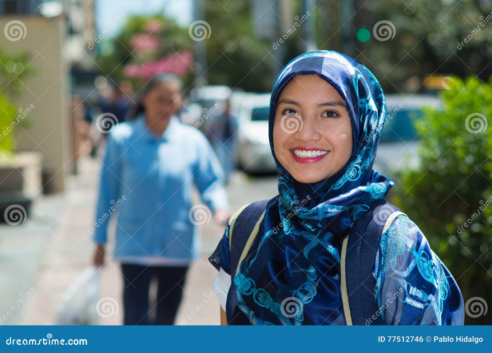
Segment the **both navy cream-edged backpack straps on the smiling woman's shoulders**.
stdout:
<path fill-rule="evenodd" d="M 251 244 L 258 234 L 267 205 L 277 201 L 278 196 L 271 200 L 253 202 L 243 206 L 231 219 L 229 244 L 234 249 L 231 251 L 232 278 L 236 274 L 246 243 L 250 240 Z M 371 290 L 375 286 L 372 272 L 381 236 L 399 215 L 404 215 L 400 209 L 386 200 L 377 200 L 352 224 L 350 233 L 343 239 L 340 284 L 347 325 L 380 325 L 380 316 L 374 318 L 374 313 L 379 309 Z M 228 321 L 233 309 L 227 306 Z"/>

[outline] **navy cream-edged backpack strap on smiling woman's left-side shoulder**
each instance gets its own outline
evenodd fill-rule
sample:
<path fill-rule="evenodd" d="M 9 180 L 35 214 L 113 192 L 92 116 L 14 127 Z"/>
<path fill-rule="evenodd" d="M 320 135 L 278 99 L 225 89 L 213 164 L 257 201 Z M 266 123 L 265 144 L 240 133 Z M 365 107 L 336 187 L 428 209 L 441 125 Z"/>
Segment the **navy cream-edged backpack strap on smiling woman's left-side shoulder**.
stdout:
<path fill-rule="evenodd" d="M 263 217 L 269 200 L 252 202 L 243 206 L 229 227 L 229 246 L 231 254 L 231 275 L 234 277 L 238 265 L 246 257 Z"/>

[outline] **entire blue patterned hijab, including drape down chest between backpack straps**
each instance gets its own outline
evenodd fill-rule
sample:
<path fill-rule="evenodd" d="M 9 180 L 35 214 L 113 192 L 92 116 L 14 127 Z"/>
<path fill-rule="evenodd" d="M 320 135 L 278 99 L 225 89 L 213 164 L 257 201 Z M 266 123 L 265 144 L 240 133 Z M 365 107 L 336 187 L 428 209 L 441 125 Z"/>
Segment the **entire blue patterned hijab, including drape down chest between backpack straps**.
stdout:
<path fill-rule="evenodd" d="M 326 80 L 345 100 L 353 151 L 336 175 L 304 184 L 275 157 L 273 126 L 282 89 L 295 75 L 311 74 Z M 268 203 L 258 236 L 238 266 L 227 301 L 234 308 L 229 320 L 238 323 L 242 317 L 245 323 L 256 325 L 345 323 L 340 294 L 341 240 L 354 220 L 375 200 L 385 198 L 393 186 L 391 180 L 372 170 L 385 117 L 379 82 L 347 55 L 310 52 L 283 68 L 272 91 L 269 117 L 270 146 L 280 171 L 279 196 Z"/>

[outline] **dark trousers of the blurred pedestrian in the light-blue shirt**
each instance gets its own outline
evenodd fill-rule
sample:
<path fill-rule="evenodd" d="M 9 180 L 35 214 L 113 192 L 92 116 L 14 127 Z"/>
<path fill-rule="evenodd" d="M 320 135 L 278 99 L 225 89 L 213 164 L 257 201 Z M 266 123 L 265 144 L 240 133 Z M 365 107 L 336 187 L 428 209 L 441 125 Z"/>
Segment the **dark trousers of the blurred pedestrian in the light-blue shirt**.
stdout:
<path fill-rule="evenodd" d="M 180 305 L 188 267 L 147 267 L 122 264 L 123 325 L 173 325 Z M 149 307 L 149 288 L 157 279 L 157 303 Z M 155 309 L 155 321 L 149 312 Z"/>

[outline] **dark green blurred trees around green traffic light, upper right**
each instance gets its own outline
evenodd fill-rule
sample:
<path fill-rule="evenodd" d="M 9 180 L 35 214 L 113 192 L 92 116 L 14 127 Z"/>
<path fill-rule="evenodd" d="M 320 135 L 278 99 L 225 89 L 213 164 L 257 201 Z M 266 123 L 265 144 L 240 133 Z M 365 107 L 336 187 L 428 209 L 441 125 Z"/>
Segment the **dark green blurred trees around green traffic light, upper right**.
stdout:
<path fill-rule="evenodd" d="M 491 1 L 329 0 L 317 8 L 321 11 L 315 12 L 320 49 L 357 57 L 385 92 L 422 89 L 426 75 L 431 74 L 481 79 L 492 74 Z M 386 23 L 374 28 L 380 21 Z M 369 30 L 367 42 L 356 39 L 360 28 Z M 374 29 L 383 40 L 375 37 Z"/>

